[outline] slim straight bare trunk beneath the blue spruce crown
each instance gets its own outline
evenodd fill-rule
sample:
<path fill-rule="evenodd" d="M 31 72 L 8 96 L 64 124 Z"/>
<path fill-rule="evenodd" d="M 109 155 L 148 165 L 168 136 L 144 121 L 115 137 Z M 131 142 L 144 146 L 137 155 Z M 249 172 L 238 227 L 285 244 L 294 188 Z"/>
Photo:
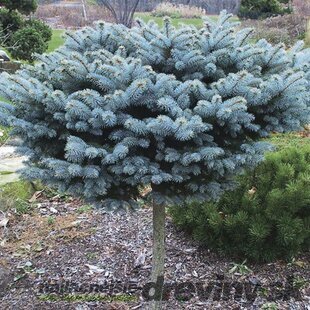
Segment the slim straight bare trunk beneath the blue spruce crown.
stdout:
<path fill-rule="evenodd" d="M 160 310 L 163 297 L 165 269 L 165 205 L 153 203 L 153 262 L 151 282 L 156 283 L 156 298 L 153 310 Z"/>

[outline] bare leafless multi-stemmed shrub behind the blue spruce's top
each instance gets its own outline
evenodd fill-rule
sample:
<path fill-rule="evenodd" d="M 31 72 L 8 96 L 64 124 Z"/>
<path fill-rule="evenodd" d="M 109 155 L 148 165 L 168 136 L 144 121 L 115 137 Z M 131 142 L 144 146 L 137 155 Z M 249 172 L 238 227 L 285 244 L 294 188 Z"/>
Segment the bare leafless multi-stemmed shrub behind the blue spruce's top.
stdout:
<path fill-rule="evenodd" d="M 139 1 L 140 0 L 97 0 L 97 3 L 105 6 L 111 12 L 116 23 L 131 27 Z"/>

